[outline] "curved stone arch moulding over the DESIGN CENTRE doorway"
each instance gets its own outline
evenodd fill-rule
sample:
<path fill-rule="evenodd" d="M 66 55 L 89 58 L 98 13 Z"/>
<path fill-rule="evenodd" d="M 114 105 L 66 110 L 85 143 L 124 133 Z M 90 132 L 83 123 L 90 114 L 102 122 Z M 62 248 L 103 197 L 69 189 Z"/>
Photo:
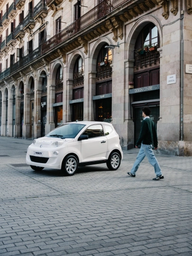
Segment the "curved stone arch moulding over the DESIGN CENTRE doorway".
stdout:
<path fill-rule="evenodd" d="M 137 37 L 143 27 L 149 23 L 154 23 L 159 32 L 160 47 L 163 42 L 163 31 L 160 20 L 153 15 L 146 15 L 136 21 L 134 26 L 131 28 L 131 31 L 128 35 L 128 40 L 125 45 L 125 59 L 134 59 L 134 47 L 137 40 Z"/>

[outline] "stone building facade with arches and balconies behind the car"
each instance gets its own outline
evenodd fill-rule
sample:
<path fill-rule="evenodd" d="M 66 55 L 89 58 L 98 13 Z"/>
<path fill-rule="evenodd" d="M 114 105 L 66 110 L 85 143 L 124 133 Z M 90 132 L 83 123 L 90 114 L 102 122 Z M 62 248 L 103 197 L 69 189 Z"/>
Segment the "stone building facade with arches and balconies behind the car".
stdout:
<path fill-rule="evenodd" d="M 158 152 L 192 155 L 191 49 L 192 0 L 0 0 L 0 136 L 97 120 L 130 149 L 149 106 Z"/>

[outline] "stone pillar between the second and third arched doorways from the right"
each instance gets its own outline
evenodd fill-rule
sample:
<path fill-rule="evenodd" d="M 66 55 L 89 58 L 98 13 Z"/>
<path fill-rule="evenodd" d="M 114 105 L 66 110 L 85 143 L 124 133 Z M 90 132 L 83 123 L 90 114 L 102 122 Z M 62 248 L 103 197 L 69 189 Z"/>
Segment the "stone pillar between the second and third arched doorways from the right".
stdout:
<path fill-rule="evenodd" d="M 87 95 L 87 101 L 88 101 L 88 120 L 93 121 L 94 120 L 94 108 L 93 108 L 93 100 L 92 97 L 95 95 L 96 91 L 96 71 L 89 72 L 89 80 L 88 80 L 88 86 L 89 91 Z"/>

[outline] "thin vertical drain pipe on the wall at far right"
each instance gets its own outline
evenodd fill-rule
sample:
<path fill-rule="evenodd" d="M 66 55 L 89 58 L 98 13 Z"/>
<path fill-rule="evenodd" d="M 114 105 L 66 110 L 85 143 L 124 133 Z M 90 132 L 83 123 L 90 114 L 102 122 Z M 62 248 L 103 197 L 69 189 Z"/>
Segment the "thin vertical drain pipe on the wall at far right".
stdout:
<path fill-rule="evenodd" d="M 183 141 L 183 10 L 181 11 L 181 16 L 181 141 Z"/>

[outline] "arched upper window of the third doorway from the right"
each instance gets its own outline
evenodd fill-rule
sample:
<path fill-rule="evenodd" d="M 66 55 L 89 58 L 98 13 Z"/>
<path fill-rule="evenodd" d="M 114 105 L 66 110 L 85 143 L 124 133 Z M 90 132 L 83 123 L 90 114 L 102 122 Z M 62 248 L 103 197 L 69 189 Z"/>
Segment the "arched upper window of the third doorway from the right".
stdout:
<path fill-rule="evenodd" d="M 73 86 L 83 86 L 84 77 L 84 64 L 82 57 L 79 56 L 74 64 L 73 69 Z"/>

